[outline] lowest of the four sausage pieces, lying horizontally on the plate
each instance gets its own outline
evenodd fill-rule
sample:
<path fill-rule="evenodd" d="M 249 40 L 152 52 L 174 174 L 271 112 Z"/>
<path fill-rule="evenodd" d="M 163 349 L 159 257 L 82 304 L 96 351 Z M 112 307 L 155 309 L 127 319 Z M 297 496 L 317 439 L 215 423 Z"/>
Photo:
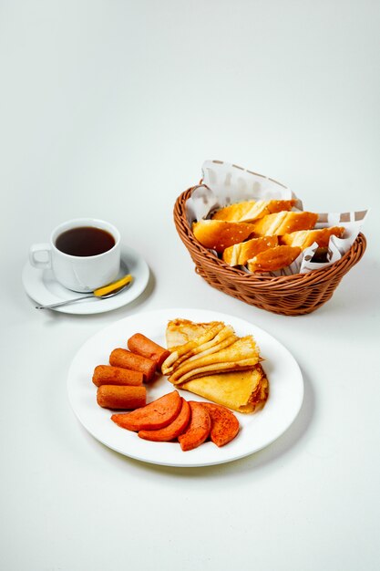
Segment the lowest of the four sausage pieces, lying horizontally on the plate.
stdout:
<path fill-rule="evenodd" d="M 147 389 L 145 387 L 101 385 L 98 387 L 97 400 L 98 405 L 104 409 L 139 409 L 147 403 Z"/>

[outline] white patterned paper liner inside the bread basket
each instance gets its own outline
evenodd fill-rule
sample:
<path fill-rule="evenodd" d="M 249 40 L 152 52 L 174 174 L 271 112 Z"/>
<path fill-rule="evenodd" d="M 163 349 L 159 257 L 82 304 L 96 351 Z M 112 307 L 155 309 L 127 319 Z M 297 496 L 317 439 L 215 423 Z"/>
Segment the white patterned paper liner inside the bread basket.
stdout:
<path fill-rule="evenodd" d="M 233 202 L 248 200 L 290 200 L 297 202 L 292 210 L 303 210 L 303 203 L 289 188 L 281 182 L 248 171 L 241 167 L 223 161 L 205 161 L 202 166 L 202 182 L 196 187 L 186 202 L 186 216 L 189 225 L 202 218 L 210 218 L 215 210 L 228 206 Z M 282 270 L 268 272 L 264 275 L 293 275 L 307 274 L 316 269 L 332 265 L 339 260 L 354 244 L 360 233 L 368 211 L 353 213 L 319 213 L 314 228 L 343 226 L 344 238 L 331 236 L 328 244 L 327 262 L 312 262 L 313 254 L 318 248 L 314 243 Z M 217 255 L 216 252 L 212 251 Z M 250 274 L 246 266 L 239 266 Z"/>

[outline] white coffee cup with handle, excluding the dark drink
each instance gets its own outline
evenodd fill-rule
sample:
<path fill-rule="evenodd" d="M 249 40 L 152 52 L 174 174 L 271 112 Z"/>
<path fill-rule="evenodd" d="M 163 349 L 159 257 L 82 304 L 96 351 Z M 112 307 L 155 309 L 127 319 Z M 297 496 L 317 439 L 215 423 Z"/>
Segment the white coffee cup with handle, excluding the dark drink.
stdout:
<path fill-rule="evenodd" d="M 56 247 L 56 241 L 62 234 L 88 227 L 111 234 L 115 244 L 106 252 L 94 255 L 67 254 Z M 85 293 L 117 279 L 120 269 L 120 249 L 120 234 L 115 226 L 95 218 L 77 218 L 59 224 L 53 230 L 48 244 L 32 245 L 29 250 L 29 261 L 36 268 L 52 269 L 56 281 L 67 289 Z M 46 259 L 41 260 L 41 256 Z"/>

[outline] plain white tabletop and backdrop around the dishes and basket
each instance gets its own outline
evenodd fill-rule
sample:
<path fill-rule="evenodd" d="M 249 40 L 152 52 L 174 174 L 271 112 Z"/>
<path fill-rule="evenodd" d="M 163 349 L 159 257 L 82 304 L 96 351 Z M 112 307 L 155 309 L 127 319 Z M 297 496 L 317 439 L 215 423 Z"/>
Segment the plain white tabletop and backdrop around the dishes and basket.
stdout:
<path fill-rule="evenodd" d="M 0 3 L 1 534 L 6 571 L 352 571 L 379 563 L 379 3 Z M 195 274 L 172 222 L 206 159 L 372 211 L 363 260 L 312 315 Z M 151 279 L 96 316 L 38 312 L 21 272 L 56 224 L 104 218 Z M 303 408 L 271 446 L 199 469 L 128 459 L 67 400 L 78 348 L 158 308 L 248 319 L 289 348 Z"/>

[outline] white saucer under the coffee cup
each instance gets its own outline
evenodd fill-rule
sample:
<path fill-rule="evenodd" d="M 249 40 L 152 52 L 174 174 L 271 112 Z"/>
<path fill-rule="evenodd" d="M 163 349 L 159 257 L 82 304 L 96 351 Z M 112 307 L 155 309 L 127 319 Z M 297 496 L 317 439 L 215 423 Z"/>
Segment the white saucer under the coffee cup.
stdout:
<path fill-rule="evenodd" d="M 90 297 L 84 301 L 77 301 L 67 306 L 56 307 L 55 311 L 77 315 L 103 313 L 126 306 L 139 297 L 149 282 L 149 267 L 145 260 L 132 248 L 121 246 L 121 267 L 118 277 L 131 274 L 133 281 L 127 289 L 118 296 L 108 299 Z M 58 284 L 52 270 L 39 270 L 26 263 L 23 269 L 23 285 L 26 294 L 40 305 L 55 304 L 65 299 L 80 296 L 63 285 Z"/>

